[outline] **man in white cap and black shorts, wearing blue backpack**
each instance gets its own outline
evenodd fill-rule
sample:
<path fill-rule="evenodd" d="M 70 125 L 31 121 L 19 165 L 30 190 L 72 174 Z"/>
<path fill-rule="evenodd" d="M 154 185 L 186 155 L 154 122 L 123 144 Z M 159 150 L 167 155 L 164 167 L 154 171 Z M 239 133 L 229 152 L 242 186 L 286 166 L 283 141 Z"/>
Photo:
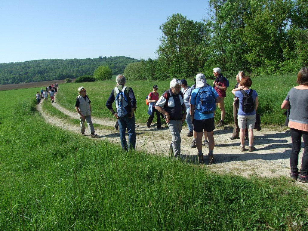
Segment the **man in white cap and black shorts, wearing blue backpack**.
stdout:
<path fill-rule="evenodd" d="M 213 87 L 206 83 L 204 74 L 200 73 L 196 75 L 196 88 L 193 90 L 190 99 L 190 111 L 193 122 L 193 130 L 197 132 L 197 149 L 199 163 L 203 163 L 202 153 L 202 136 L 203 131 L 207 133 L 209 140 L 209 163 L 214 159 L 214 111 L 216 109 L 216 103 L 220 103 L 221 98 Z"/>

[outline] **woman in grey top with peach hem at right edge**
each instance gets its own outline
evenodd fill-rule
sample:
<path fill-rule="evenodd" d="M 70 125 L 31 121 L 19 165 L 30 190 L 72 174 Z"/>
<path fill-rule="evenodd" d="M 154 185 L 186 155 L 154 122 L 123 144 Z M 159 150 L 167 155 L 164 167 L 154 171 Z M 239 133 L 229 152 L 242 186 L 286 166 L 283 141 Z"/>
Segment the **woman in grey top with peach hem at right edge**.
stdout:
<path fill-rule="evenodd" d="M 303 67 L 297 74 L 298 86 L 293 87 L 282 102 L 282 109 L 289 109 L 289 124 L 292 149 L 290 155 L 290 177 L 303 183 L 308 182 L 308 68 Z M 301 170 L 298 171 L 298 154 L 301 150 L 302 139 L 304 152 Z"/>

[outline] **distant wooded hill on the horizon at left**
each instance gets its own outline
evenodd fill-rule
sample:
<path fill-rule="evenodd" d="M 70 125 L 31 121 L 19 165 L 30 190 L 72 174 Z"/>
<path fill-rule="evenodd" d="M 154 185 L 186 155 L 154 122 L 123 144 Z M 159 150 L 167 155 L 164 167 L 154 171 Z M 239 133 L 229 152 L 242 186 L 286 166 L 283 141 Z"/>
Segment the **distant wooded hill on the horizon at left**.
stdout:
<path fill-rule="evenodd" d="M 99 66 L 108 66 L 112 74 L 122 74 L 129 63 L 138 62 L 124 56 L 95 59 L 41 59 L 18 63 L 0 63 L 0 84 L 31 83 L 93 75 Z"/>

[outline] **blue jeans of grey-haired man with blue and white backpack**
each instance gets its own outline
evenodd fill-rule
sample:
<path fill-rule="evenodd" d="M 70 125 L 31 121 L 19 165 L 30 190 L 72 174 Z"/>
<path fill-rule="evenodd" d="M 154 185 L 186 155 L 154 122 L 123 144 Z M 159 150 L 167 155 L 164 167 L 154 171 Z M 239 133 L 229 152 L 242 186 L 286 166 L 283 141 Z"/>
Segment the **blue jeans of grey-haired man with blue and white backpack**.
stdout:
<path fill-rule="evenodd" d="M 128 115 L 123 117 L 119 117 L 119 131 L 120 131 L 120 139 L 121 146 L 123 150 L 128 151 L 129 148 L 136 148 L 136 133 L 135 133 L 135 114 L 132 118 L 128 118 Z M 128 145 L 125 138 L 125 132 L 128 132 Z"/>

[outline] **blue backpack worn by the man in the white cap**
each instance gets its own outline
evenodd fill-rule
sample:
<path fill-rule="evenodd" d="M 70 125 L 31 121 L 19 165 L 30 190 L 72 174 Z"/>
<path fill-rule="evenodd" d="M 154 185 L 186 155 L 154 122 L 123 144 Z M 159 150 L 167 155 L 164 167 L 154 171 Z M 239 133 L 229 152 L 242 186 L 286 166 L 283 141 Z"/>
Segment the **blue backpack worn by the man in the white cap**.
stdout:
<path fill-rule="evenodd" d="M 200 94 L 199 94 L 200 92 Z M 213 91 L 207 87 L 202 87 L 199 89 L 197 95 L 200 96 L 200 103 L 197 105 L 196 109 L 204 114 L 210 114 L 216 110 L 216 100 Z M 196 99 L 195 99 L 196 104 Z"/>

